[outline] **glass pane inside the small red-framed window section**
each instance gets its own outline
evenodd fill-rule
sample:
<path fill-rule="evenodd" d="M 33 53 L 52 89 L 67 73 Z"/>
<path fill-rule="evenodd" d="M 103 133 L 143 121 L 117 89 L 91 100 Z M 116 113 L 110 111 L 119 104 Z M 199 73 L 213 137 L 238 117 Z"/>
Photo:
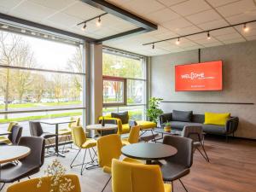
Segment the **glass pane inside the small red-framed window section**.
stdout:
<path fill-rule="evenodd" d="M 124 103 L 124 82 L 103 80 L 103 103 Z"/>

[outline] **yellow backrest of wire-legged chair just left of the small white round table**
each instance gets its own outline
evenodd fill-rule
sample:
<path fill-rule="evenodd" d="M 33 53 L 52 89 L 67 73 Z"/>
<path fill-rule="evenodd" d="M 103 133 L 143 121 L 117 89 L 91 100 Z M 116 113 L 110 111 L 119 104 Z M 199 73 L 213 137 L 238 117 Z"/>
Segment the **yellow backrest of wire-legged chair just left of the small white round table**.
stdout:
<path fill-rule="evenodd" d="M 82 126 L 73 126 L 71 129 L 73 143 L 79 148 L 86 142 L 86 134 Z"/>

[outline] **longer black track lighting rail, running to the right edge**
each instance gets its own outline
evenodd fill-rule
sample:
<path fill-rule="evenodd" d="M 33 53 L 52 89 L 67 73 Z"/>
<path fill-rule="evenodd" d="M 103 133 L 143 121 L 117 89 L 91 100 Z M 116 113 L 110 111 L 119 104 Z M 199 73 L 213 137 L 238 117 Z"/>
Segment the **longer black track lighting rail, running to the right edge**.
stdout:
<path fill-rule="evenodd" d="M 154 47 L 154 44 L 158 44 L 160 42 L 170 41 L 170 40 L 174 40 L 174 39 L 179 40 L 180 38 L 186 38 L 186 37 L 193 36 L 193 35 L 198 35 L 198 34 L 201 34 L 201 33 L 207 33 L 207 37 L 210 37 L 210 32 L 217 31 L 217 30 L 220 30 L 220 29 L 230 28 L 230 27 L 234 27 L 234 26 L 241 26 L 241 25 L 245 26 L 248 23 L 253 23 L 253 22 L 256 22 L 256 20 L 249 20 L 249 21 L 246 21 L 246 22 L 241 22 L 241 23 L 237 23 L 237 24 L 234 24 L 234 25 L 230 25 L 230 26 L 222 26 L 222 27 L 218 27 L 218 28 L 213 28 L 213 29 L 209 29 L 209 30 L 206 30 L 206 31 L 203 31 L 203 32 L 194 32 L 194 33 L 190 33 L 190 34 L 187 34 L 187 35 L 178 36 L 178 37 L 175 37 L 175 38 L 166 38 L 166 39 L 163 39 L 163 40 L 154 41 L 154 42 L 150 42 L 150 43 L 143 44 L 143 45 L 152 44 L 153 47 Z"/>

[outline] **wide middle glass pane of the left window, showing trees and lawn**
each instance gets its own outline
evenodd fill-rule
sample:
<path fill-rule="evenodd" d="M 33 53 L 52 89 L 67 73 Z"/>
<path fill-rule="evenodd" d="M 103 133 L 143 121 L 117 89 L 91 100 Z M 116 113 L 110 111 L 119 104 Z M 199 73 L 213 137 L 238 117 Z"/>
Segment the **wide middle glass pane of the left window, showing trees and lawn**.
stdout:
<path fill-rule="evenodd" d="M 84 107 L 84 78 L 0 67 L 0 111 Z"/>

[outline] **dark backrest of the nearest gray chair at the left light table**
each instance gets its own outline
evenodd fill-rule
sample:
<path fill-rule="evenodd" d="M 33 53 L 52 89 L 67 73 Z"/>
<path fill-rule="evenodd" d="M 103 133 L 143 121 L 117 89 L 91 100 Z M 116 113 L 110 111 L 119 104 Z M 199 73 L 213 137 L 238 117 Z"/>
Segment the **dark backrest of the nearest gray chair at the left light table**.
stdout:
<path fill-rule="evenodd" d="M 42 137 L 20 137 L 18 143 L 31 149 L 30 154 L 21 159 L 22 164 L 41 167 L 44 165 L 45 140 Z"/>

